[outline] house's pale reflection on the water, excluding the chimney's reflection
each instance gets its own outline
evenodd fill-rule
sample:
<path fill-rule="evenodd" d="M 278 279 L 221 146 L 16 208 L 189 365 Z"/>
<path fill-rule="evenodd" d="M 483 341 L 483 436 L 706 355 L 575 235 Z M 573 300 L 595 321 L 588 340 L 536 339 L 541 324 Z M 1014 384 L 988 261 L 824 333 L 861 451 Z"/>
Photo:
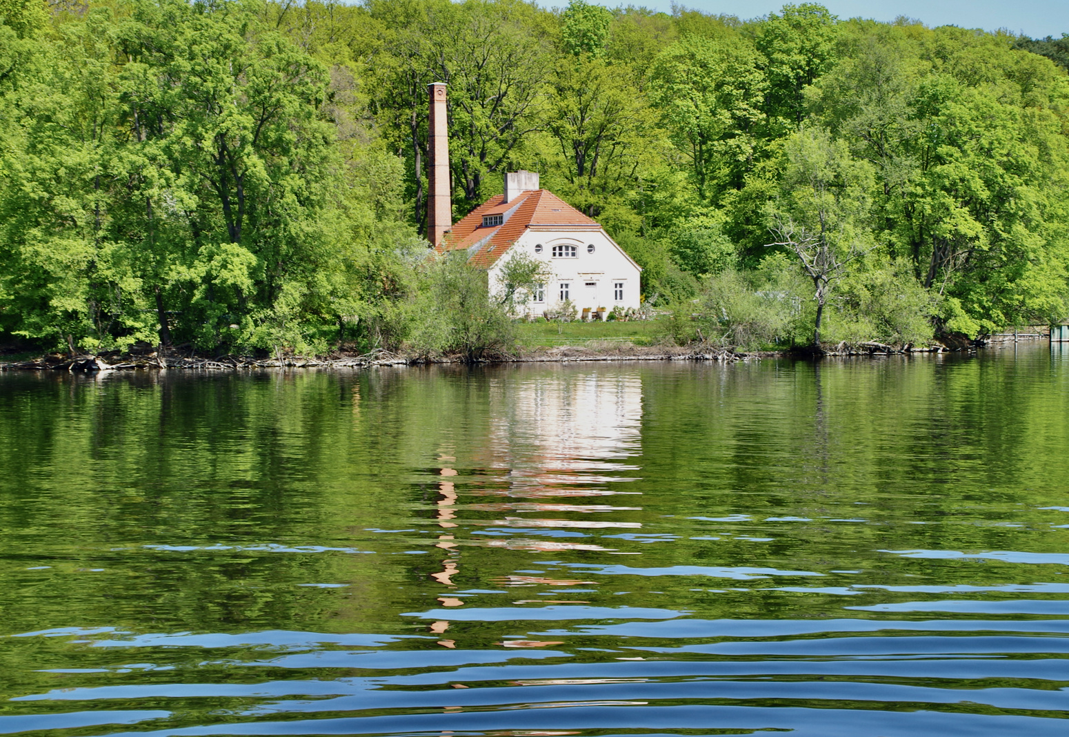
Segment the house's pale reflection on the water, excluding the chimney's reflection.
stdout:
<path fill-rule="evenodd" d="M 560 497 L 634 493 L 613 487 L 633 480 L 620 472 L 636 470 L 626 459 L 638 452 L 641 413 L 641 379 L 632 371 L 578 372 L 555 367 L 495 382 L 490 393 L 489 437 L 481 447 L 471 448 L 471 462 L 502 472 L 492 475 L 499 482 L 479 495 L 509 501 L 470 500 L 476 503 L 466 508 L 501 512 L 503 519 L 481 524 L 516 527 L 517 533 L 520 528 L 549 533 L 640 527 L 638 522 L 605 519 L 606 512 L 638 507 L 575 504 Z M 553 539 L 549 534 L 480 544 L 534 551 L 606 550 L 591 541 Z"/>

